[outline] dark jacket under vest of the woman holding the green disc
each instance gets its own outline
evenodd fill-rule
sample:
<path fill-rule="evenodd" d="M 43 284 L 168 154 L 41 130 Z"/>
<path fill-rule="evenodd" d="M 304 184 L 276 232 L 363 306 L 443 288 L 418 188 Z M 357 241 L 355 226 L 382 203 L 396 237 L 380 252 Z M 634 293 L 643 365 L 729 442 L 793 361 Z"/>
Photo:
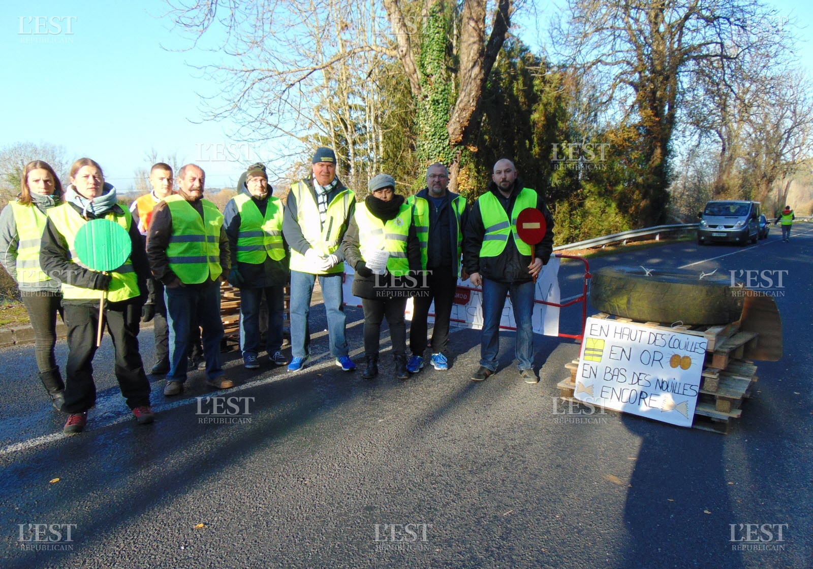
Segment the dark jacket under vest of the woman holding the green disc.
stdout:
<path fill-rule="evenodd" d="M 76 210 L 76 213 L 81 215 L 82 209 L 72 203 L 68 203 L 68 207 Z M 108 211 L 115 212 L 116 214 L 130 213 L 126 209 L 122 209 L 120 205 L 114 205 Z M 106 212 L 107 213 L 107 212 Z M 103 217 L 99 216 L 99 217 Z M 93 213 L 88 213 L 90 219 L 96 219 Z M 144 242 L 141 234 L 138 232 L 138 226 L 135 223 L 130 223 L 130 262 L 133 263 L 133 271 L 136 273 L 138 282 L 138 290 L 141 292 L 140 296 L 128 300 L 129 302 L 138 302 L 143 304 L 146 301 L 147 287 L 146 279 L 150 277 L 150 266 L 147 264 L 146 254 L 144 252 Z M 57 231 L 54 222 L 48 218 L 45 231 L 42 232 L 42 244 L 40 246 L 40 266 L 50 278 L 59 282 L 64 282 L 74 287 L 90 288 L 96 291 L 101 291 L 107 288 L 110 283 L 110 277 L 98 271 L 85 269 L 81 265 L 77 265 L 69 261 L 71 252 L 67 248 L 67 242 L 59 231 Z M 98 300 L 88 299 L 63 299 L 63 304 L 76 304 L 82 306 L 98 306 Z"/>

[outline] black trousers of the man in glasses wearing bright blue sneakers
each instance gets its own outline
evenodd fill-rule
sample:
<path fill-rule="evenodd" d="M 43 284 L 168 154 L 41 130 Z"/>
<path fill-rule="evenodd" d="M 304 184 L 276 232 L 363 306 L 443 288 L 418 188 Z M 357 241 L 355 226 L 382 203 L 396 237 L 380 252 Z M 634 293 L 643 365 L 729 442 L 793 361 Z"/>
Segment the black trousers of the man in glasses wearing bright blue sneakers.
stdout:
<path fill-rule="evenodd" d="M 457 290 L 457 275 L 444 269 L 430 269 L 427 275 L 427 296 L 415 296 L 412 300 L 412 324 L 409 330 L 409 344 L 413 356 L 424 356 L 426 350 L 426 330 L 429 306 L 435 300 L 435 329 L 432 333 L 432 353 L 446 351 L 449 343 L 449 318 Z"/>

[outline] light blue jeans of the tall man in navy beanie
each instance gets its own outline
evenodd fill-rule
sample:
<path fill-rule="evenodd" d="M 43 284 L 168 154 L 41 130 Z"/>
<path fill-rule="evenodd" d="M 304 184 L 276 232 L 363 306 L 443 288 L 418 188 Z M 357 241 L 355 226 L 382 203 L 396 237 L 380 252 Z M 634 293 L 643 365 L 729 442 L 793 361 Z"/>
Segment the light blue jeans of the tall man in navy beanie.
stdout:
<path fill-rule="evenodd" d="M 315 280 L 315 274 L 291 271 L 291 354 L 295 358 L 305 357 L 306 347 L 310 348 L 311 334 L 307 317 L 311 313 L 311 295 Z M 341 273 L 328 277 L 319 275 L 324 310 L 328 313 L 330 355 L 334 358 L 341 358 L 348 354 L 345 340 L 347 317 L 345 309 L 341 305 L 341 280 Z"/>

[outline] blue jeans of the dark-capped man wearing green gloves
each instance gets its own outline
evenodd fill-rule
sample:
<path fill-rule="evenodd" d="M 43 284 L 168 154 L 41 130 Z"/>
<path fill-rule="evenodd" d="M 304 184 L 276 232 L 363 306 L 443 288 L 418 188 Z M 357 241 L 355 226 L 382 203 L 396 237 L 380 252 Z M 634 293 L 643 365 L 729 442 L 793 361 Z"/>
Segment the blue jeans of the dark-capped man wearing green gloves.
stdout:
<path fill-rule="evenodd" d="M 259 352 L 259 304 L 268 304 L 268 356 L 282 347 L 282 323 L 285 321 L 285 287 L 240 289 L 240 349 L 243 357 L 257 357 Z"/>

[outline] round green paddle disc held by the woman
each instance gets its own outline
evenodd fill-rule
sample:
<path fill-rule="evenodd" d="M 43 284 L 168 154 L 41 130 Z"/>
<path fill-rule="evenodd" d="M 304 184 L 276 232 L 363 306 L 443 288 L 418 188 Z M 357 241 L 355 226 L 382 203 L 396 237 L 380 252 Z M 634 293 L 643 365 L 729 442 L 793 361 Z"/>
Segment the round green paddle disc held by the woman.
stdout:
<path fill-rule="evenodd" d="M 133 245 L 124 227 L 110 219 L 91 219 L 76 232 L 76 255 L 89 269 L 109 271 L 127 261 Z"/>

